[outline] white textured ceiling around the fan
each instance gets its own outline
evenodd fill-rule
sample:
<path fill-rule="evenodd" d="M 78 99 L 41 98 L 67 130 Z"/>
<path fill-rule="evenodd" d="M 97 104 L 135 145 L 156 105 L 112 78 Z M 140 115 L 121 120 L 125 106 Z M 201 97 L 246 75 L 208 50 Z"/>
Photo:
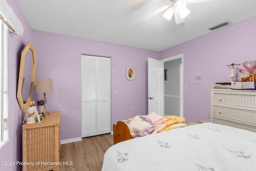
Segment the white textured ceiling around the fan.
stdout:
<path fill-rule="evenodd" d="M 226 20 L 256 16 L 255 0 L 190 3 L 191 13 L 176 25 L 164 12 L 141 20 L 170 0 L 16 0 L 33 30 L 162 51 L 212 31 Z"/>

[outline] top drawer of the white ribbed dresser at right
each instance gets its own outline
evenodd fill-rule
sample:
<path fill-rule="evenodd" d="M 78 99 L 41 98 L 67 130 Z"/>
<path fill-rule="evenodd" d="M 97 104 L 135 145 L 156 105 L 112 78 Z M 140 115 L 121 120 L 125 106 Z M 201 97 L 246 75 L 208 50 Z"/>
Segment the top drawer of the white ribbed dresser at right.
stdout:
<path fill-rule="evenodd" d="M 255 95 L 236 95 L 236 94 L 213 94 L 213 103 L 221 103 L 227 105 L 236 105 L 244 107 L 256 107 Z"/>

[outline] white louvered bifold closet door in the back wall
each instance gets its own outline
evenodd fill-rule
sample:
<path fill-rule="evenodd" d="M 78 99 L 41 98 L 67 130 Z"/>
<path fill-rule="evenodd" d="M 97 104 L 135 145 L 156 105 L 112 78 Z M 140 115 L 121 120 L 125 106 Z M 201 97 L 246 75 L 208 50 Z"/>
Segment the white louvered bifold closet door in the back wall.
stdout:
<path fill-rule="evenodd" d="M 110 58 L 82 55 L 82 137 L 110 133 Z"/>

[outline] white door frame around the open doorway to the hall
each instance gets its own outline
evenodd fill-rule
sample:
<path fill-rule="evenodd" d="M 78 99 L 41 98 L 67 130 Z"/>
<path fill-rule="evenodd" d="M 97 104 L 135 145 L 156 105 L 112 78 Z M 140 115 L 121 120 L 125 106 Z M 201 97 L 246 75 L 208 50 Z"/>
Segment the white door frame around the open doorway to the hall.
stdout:
<path fill-rule="evenodd" d="M 176 60 L 176 59 L 180 59 L 181 58 L 181 65 L 180 65 L 180 72 L 181 72 L 181 78 L 180 78 L 180 116 L 184 116 L 184 103 L 183 103 L 183 96 L 184 96 L 184 93 L 183 93 L 183 82 L 184 82 L 184 60 L 183 60 L 183 57 L 184 57 L 184 54 L 179 54 L 179 55 L 176 55 L 176 56 L 172 56 L 172 57 L 169 57 L 169 58 L 165 58 L 165 59 L 162 59 L 160 61 L 162 62 L 168 62 L 168 61 L 172 61 L 172 60 Z"/>

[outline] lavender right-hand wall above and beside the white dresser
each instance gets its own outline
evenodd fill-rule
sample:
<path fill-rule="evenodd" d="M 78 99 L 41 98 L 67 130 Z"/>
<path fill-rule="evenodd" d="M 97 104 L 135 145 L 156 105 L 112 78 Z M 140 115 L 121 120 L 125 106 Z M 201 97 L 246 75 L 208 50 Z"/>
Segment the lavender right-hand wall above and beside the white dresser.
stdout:
<path fill-rule="evenodd" d="M 160 59 L 184 54 L 186 123 L 210 118 L 210 88 L 216 82 L 230 82 L 226 65 L 241 64 L 238 68 L 244 68 L 243 62 L 256 60 L 255 30 L 256 17 L 160 52 Z M 202 74 L 202 84 L 195 84 L 196 74 Z"/>

